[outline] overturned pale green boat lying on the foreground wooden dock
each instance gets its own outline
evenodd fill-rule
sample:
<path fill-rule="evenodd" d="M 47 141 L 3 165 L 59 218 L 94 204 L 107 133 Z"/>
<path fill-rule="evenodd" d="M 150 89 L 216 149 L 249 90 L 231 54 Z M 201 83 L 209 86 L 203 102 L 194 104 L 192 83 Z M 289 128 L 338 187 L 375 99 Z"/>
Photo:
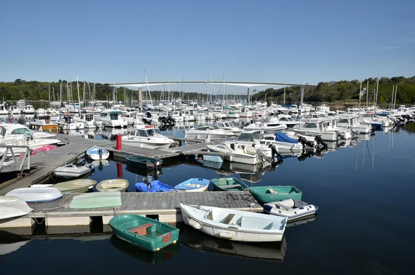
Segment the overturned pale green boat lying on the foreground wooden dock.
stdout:
<path fill-rule="evenodd" d="M 73 197 L 70 209 L 93 209 L 102 207 L 120 206 L 120 192 L 93 192 Z"/>

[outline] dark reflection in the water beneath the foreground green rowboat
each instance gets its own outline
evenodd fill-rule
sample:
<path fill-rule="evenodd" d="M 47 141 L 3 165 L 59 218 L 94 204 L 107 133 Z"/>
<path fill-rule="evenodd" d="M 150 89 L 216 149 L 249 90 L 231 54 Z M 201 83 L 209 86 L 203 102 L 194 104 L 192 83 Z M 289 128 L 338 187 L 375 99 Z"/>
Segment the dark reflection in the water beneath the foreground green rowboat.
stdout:
<path fill-rule="evenodd" d="M 140 249 L 136 245 L 131 245 L 129 242 L 124 242 L 115 235 L 111 237 L 109 242 L 111 242 L 111 245 L 116 247 L 116 249 L 121 251 L 123 254 L 151 265 L 158 265 L 159 263 L 163 263 L 165 260 L 169 260 L 169 258 L 172 258 L 175 254 L 178 254 L 179 247 L 178 244 L 170 245 L 169 247 L 165 247 L 164 249 L 154 253 Z"/>

